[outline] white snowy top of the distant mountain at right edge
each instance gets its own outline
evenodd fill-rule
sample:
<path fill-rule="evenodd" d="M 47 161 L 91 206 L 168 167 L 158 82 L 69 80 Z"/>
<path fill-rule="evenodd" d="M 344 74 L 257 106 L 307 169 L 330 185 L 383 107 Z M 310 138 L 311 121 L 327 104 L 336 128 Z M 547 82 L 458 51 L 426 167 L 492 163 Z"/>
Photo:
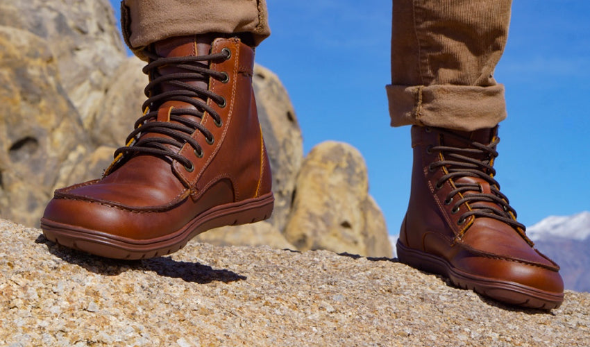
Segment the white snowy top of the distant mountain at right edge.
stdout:
<path fill-rule="evenodd" d="M 533 241 L 550 237 L 564 237 L 582 241 L 590 237 L 590 212 L 573 216 L 551 216 L 527 228 L 527 235 Z"/>

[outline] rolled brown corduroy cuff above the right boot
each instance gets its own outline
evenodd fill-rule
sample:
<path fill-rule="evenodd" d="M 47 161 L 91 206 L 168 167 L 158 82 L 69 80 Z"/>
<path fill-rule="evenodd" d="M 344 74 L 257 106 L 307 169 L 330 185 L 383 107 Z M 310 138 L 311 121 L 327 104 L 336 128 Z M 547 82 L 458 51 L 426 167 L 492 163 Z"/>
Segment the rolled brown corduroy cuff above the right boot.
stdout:
<path fill-rule="evenodd" d="M 387 85 L 391 126 L 473 131 L 506 118 L 504 86 Z"/>

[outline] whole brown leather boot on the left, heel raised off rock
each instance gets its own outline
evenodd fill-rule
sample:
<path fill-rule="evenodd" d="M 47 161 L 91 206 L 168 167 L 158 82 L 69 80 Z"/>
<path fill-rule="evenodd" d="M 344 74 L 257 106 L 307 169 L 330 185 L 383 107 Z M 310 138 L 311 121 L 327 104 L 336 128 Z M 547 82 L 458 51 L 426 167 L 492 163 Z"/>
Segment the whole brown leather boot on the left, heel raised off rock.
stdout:
<path fill-rule="evenodd" d="M 271 171 L 237 38 L 157 42 L 144 116 L 103 178 L 58 189 L 41 219 L 53 242 L 103 257 L 178 251 L 218 226 L 270 217 Z"/>

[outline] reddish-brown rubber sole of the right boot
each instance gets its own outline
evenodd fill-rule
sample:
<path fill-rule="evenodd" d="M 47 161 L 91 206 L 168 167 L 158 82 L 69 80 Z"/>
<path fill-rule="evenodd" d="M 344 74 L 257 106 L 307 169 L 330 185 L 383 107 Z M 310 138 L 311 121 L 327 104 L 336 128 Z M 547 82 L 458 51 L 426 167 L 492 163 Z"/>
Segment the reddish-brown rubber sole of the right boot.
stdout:
<path fill-rule="evenodd" d="M 471 289 L 478 294 L 488 296 L 489 298 L 509 305 L 551 310 L 562 305 L 564 301 L 563 293 L 542 291 L 516 282 L 502 281 L 496 278 L 485 278 L 475 276 L 471 273 L 465 273 L 456 269 L 443 258 L 404 246 L 399 240 L 396 248 L 400 262 L 419 270 L 437 273 L 448 278 L 455 287 Z"/>

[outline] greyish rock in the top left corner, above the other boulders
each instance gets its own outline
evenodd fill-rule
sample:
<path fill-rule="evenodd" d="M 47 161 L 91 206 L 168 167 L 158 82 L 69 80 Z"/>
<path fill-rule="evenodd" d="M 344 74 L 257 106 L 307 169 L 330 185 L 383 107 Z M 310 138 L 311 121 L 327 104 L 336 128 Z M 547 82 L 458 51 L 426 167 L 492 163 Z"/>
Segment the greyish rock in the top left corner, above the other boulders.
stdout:
<path fill-rule="evenodd" d="M 0 25 L 46 42 L 80 117 L 101 107 L 111 76 L 125 58 L 109 1 L 0 0 Z"/>

